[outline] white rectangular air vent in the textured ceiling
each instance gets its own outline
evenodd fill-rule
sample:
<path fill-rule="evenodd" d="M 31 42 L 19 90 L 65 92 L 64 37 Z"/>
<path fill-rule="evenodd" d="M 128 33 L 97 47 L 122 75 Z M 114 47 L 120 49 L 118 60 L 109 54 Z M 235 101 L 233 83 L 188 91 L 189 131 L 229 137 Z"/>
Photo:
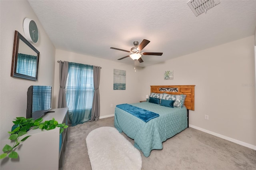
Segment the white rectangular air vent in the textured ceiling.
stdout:
<path fill-rule="evenodd" d="M 210 8 L 220 4 L 220 0 L 190 0 L 187 4 L 194 14 L 199 16 Z"/>

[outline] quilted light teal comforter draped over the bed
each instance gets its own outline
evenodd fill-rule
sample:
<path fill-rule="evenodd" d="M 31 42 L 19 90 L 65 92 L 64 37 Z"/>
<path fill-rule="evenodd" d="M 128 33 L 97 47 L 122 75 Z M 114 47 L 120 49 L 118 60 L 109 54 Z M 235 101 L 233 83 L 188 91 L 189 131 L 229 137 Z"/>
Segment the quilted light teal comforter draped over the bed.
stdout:
<path fill-rule="evenodd" d="M 146 123 L 118 107 L 115 109 L 114 126 L 134 139 L 134 146 L 146 157 L 150 156 L 151 150 L 162 149 L 162 142 L 188 126 L 186 107 L 170 108 L 149 102 L 131 105 L 159 114 Z"/>

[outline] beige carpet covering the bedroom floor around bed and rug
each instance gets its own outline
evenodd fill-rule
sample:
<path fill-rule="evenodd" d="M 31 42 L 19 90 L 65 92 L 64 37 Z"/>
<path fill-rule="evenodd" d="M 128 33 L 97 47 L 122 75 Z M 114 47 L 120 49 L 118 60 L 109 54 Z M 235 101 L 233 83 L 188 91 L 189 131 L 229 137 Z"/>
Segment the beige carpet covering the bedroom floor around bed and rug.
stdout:
<path fill-rule="evenodd" d="M 91 170 L 86 136 L 99 127 L 114 127 L 114 117 L 69 127 L 62 170 Z M 132 144 L 134 141 L 122 133 Z M 162 150 L 142 157 L 142 170 L 256 170 L 256 150 L 186 128 L 163 142 Z"/>

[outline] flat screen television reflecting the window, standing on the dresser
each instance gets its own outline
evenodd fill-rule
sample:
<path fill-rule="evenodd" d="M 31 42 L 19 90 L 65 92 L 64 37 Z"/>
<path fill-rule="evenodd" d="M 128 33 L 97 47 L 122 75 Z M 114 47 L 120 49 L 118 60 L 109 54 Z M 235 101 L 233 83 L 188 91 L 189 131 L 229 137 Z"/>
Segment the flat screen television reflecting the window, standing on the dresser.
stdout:
<path fill-rule="evenodd" d="M 52 103 L 51 86 L 28 87 L 26 118 L 38 119 L 50 112 Z"/>

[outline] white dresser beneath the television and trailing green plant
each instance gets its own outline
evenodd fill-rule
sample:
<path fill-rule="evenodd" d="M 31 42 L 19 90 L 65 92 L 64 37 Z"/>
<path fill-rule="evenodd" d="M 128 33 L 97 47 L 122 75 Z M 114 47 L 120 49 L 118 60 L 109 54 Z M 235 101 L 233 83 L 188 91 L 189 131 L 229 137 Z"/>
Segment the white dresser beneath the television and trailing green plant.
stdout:
<path fill-rule="evenodd" d="M 58 123 L 68 124 L 68 108 L 52 109 L 43 119 L 49 121 L 54 118 Z M 11 130 L 10 130 L 11 131 Z M 16 149 L 18 159 L 4 158 L 1 160 L 1 170 L 58 170 L 62 168 L 64 152 L 68 139 L 68 128 L 60 134 L 60 128 L 52 130 L 29 130 L 32 135 L 22 142 Z M 10 140 L 1 141 L 1 150 Z M 2 152 L 1 152 L 2 154 Z"/>

